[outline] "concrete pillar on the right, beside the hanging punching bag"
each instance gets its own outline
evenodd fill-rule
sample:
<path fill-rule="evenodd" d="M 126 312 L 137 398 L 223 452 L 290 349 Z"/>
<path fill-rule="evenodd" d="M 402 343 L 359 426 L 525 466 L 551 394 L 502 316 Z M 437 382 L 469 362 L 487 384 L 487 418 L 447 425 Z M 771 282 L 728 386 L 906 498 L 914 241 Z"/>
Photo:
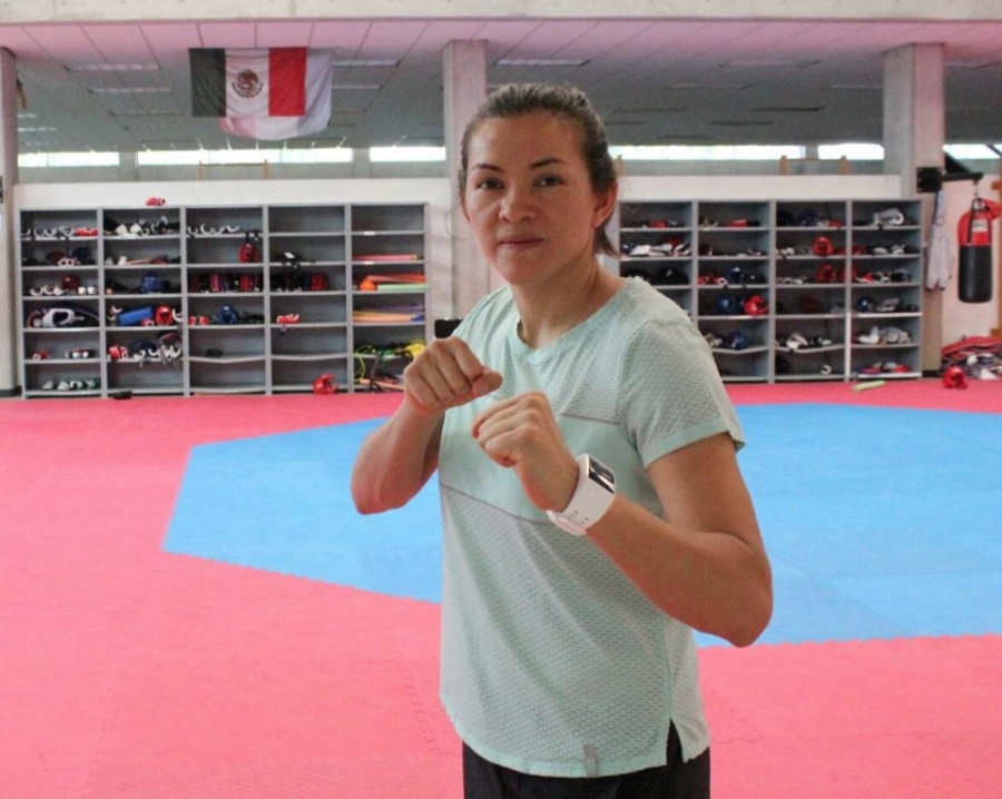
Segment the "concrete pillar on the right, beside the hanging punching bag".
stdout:
<path fill-rule="evenodd" d="M 884 172 L 901 176 L 901 191 L 913 197 L 918 167 L 943 168 L 946 91 L 942 45 L 907 45 L 884 56 Z M 933 196 L 922 197 L 922 221 L 930 229 Z M 943 293 L 926 290 L 922 303 L 922 368 L 939 369 L 943 342 Z"/>

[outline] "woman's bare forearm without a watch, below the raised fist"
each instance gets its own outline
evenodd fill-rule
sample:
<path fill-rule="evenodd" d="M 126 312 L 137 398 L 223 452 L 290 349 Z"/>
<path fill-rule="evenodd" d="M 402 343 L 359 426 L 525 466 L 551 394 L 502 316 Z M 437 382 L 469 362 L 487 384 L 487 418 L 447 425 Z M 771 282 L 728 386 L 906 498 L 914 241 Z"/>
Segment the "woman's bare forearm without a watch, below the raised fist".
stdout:
<path fill-rule="evenodd" d="M 438 467 L 444 414 L 422 415 L 404 401 L 362 444 L 352 470 L 352 499 L 360 513 L 401 507 Z"/>

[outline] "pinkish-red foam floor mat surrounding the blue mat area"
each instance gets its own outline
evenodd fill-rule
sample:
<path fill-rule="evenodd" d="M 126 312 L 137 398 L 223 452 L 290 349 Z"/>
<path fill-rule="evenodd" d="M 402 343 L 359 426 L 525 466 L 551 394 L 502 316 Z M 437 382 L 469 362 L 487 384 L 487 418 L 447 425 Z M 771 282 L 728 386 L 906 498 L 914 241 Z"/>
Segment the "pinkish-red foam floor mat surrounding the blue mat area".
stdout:
<path fill-rule="evenodd" d="M 988 383 L 733 395 L 1002 411 Z M 0 403 L 0 795 L 459 799 L 435 605 L 160 549 L 190 446 L 399 401 Z M 700 657 L 717 799 L 999 795 L 1000 637 Z"/>

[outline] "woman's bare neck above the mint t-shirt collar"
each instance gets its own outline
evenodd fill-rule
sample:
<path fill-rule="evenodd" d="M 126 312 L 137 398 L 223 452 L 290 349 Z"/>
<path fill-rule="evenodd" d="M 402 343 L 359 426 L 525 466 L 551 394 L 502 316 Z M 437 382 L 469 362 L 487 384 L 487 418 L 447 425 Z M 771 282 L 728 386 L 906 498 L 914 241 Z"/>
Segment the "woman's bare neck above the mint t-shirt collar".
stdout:
<path fill-rule="evenodd" d="M 590 268 L 561 275 L 560 285 L 513 286 L 520 337 L 534 349 L 544 347 L 601 308 L 621 285 L 621 277 L 592 258 Z"/>

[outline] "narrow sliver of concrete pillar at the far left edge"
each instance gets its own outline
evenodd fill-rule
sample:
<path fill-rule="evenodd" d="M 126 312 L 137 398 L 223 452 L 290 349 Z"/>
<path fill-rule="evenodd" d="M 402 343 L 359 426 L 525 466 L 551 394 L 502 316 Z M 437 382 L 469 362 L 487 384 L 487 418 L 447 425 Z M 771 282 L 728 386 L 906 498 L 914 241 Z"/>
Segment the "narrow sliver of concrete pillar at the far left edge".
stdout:
<path fill-rule="evenodd" d="M 0 48 L 0 396 L 19 393 L 17 243 L 13 190 L 18 184 L 18 71 Z"/>

